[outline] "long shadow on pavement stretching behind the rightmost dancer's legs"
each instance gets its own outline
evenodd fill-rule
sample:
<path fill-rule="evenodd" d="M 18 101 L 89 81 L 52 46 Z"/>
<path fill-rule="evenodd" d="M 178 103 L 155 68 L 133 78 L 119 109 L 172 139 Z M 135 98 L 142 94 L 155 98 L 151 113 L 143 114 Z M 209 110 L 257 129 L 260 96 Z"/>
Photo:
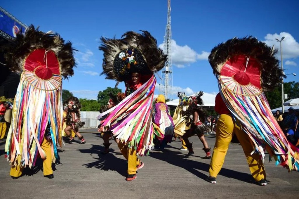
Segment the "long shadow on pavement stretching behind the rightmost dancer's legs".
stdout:
<path fill-rule="evenodd" d="M 165 149 L 163 153 L 152 152 L 150 154 L 150 157 L 184 168 L 190 173 L 196 175 L 197 177 L 203 180 L 205 180 L 208 177 L 207 175 L 199 172 L 198 170 L 209 171 L 209 164 L 184 158 L 184 156 L 181 155 L 181 152 L 169 151 Z M 250 174 L 242 173 L 239 171 L 233 171 L 226 168 L 222 168 L 218 175 L 222 175 L 228 178 L 234 178 L 236 180 L 240 180 L 246 183 L 255 183 L 253 177 Z"/>

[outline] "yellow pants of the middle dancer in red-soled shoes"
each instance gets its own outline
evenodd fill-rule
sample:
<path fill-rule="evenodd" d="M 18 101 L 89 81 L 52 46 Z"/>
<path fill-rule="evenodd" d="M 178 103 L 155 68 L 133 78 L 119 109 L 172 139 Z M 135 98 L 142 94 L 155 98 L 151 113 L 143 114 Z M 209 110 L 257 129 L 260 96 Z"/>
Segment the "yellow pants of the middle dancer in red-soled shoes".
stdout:
<path fill-rule="evenodd" d="M 140 159 L 138 159 L 135 149 L 128 149 L 128 147 L 125 146 L 123 142 L 118 142 L 118 148 L 123 154 L 123 157 L 128 160 L 128 174 L 136 174 L 137 166 L 141 163 L 141 161 Z"/>

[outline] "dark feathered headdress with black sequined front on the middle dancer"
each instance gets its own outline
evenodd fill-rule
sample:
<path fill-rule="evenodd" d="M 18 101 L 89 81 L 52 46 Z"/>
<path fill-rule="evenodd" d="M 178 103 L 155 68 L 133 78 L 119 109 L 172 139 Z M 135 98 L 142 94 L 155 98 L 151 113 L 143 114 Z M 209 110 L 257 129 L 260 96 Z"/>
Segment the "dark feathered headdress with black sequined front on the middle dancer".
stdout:
<path fill-rule="evenodd" d="M 149 75 L 164 67 L 166 55 L 157 48 L 157 40 L 147 31 L 130 31 L 121 39 L 101 38 L 99 49 L 104 52 L 103 72 L 106 79 L 126 81 L 132 72 Z"/>

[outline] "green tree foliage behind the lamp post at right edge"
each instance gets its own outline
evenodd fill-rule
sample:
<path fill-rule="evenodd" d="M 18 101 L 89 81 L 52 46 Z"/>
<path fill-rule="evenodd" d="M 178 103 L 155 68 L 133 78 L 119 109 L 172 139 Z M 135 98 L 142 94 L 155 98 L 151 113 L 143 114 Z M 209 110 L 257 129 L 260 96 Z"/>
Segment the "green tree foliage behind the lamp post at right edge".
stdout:
<path fill-rule="evenodd" d="M 288 98 L 284 101 L 299 98 L 299 82 L 291 81 L 283 83 L 283 92 L 288 94 Z M 270 108 L 281 107 L 281 84 L 273 91 L 265 92 Z"/>

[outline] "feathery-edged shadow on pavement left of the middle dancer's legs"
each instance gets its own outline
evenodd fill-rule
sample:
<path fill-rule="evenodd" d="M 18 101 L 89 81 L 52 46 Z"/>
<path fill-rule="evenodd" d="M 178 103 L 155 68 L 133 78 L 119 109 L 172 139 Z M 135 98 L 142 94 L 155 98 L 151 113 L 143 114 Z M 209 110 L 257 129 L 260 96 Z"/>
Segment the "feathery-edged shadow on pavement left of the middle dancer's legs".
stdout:
<path fill-rule="evenodd" d="M 127 161 L 124 159 L 120 159 L 118 157 L 115 157 L 114 154 L 119 154 L 115 153 L 114 149 L 109 149 L 108 154 L 101 154 L 105 149 L 104 146 L 101 145 L 91 145 L 90 149 L 79 149 L 81 153 L 86 153 L 86 154 L 97 154 L 98 157 L 94 159 L 94 162 L 90 162 L 87 164 L 83 164 L 83 166 L 86 166 L 87 168 L 98 168 L 104 171 L 117 171 L 120 175 L 126 177 L 127 172 L 126 172 L 126 167 L 127 167 Z"/>

